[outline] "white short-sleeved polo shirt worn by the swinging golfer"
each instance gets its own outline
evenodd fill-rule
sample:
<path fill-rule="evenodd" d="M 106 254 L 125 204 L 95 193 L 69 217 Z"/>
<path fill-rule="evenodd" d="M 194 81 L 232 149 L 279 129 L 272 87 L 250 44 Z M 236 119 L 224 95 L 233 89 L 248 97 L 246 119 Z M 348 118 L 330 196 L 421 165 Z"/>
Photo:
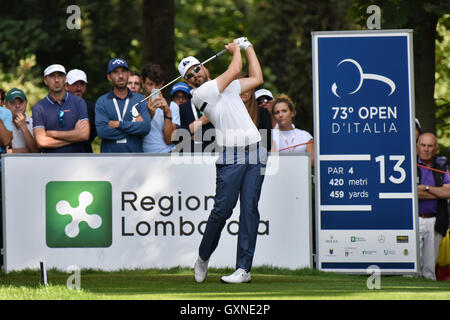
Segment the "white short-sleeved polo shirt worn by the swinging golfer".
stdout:
<path fill-rule="evenodd" d="M 234 80 L 219 92 L 217 80 L 210 80 L 192 90 L 192 101 L 197 109 L 207 103 L 204 114 L 216 129 L 216 141 L 221 147 L 241 147 L 261 141 L 241 99 L 241 84 Z"/>

